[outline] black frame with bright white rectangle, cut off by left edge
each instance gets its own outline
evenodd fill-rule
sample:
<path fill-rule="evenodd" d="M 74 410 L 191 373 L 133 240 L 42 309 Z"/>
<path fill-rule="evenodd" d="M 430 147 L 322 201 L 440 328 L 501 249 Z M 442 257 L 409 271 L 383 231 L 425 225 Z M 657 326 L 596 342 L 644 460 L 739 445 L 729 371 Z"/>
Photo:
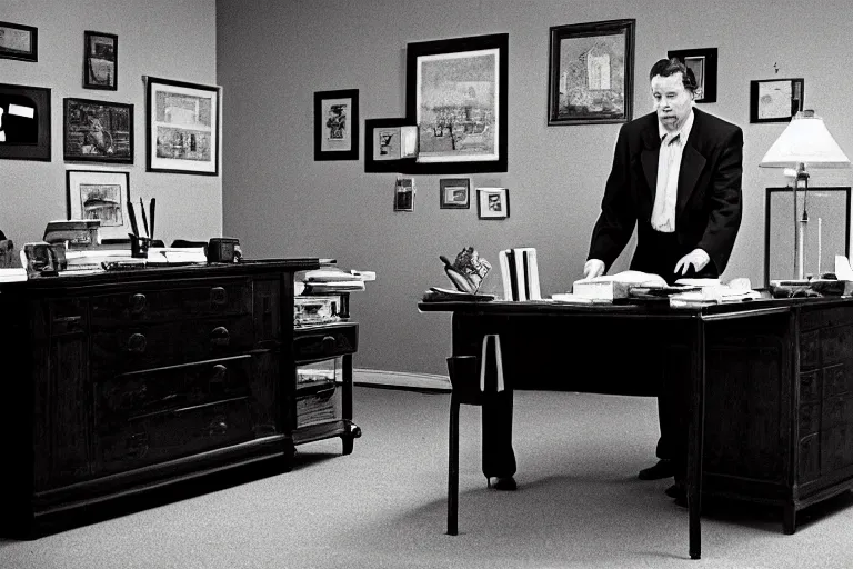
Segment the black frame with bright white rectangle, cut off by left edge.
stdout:
<path fill-rule="evenodd" d="M 0 159 L 50 161 L 50 97 L 46 87 L 0 83 Z"/>

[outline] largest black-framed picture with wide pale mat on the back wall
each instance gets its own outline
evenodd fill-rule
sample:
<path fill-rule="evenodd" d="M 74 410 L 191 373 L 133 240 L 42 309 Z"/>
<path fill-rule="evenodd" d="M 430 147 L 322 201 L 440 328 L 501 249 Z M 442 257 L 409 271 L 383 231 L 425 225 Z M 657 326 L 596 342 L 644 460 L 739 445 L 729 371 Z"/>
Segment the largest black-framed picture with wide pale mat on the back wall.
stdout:
<path fill-rule="evenodd" d="M 509 33 L 493 33 L 407 46 L 412 173 L 506 171 L 509 44 Z"/>

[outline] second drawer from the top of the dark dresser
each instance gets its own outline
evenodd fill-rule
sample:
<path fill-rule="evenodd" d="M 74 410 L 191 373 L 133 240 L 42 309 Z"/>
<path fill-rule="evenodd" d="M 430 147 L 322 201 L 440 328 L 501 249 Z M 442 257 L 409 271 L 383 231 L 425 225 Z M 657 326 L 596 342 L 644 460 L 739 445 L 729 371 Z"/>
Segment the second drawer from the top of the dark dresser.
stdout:
<path fill-rule="evenodd" d="M 250 315 L 99 330 L 91 335 L 96 378 L 235 356 L 253 347 Z"/>

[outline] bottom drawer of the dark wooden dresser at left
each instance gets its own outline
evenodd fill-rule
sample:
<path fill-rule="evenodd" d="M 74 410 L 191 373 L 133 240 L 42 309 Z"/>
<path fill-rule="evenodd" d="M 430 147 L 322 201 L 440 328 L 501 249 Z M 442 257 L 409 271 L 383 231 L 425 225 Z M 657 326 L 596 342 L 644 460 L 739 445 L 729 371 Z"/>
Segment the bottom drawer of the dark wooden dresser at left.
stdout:
<path fill-rule="evenodd" d="M 139 468 L 253 438 L 245 397 L 136 417 L 97 439 L 98 471 Z"/>

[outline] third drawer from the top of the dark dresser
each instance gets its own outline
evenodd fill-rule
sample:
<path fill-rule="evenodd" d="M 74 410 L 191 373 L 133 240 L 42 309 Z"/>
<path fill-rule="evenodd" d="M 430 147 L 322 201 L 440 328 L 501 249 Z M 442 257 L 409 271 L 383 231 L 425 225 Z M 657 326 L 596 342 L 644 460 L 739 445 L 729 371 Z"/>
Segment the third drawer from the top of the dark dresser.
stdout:
<path fill-rule="evenodd" d="M 252 356 L 122 373 L 94 386 L 96 425 L 249 395 Z"/>

